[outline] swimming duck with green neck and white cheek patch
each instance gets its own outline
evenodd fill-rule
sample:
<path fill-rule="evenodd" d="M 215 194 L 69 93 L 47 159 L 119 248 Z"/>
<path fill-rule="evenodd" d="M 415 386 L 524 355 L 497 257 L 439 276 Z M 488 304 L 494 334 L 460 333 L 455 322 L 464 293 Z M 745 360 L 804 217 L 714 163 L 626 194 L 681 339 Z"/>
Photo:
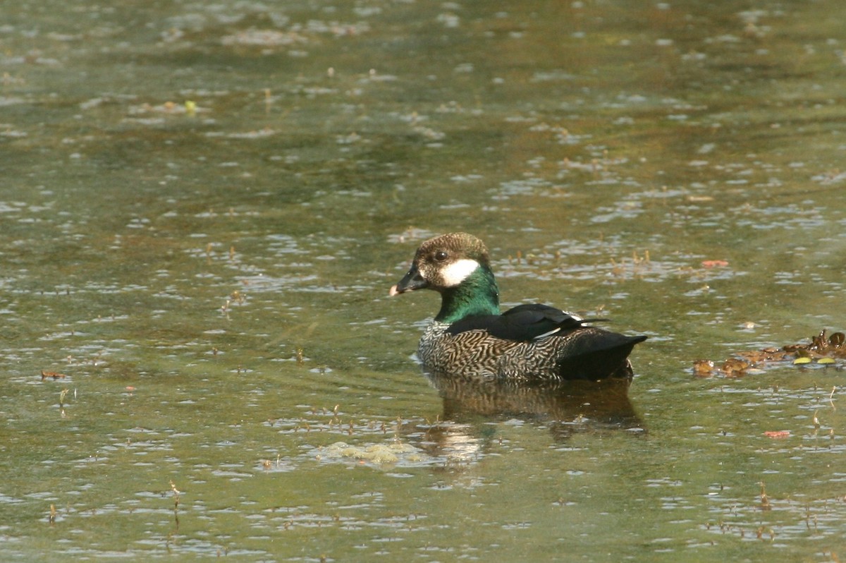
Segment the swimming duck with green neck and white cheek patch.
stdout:
<path fill-rule="evenodd" d="M 441 294 L 441 308 L 417 349 L 423 370 L 439 378 L 551 382 L 627 378 L 629 354 L 645 335 L 598 328 L 553 306 L 531 303 L 500 312 L 485 243 L 468 233 L 423 242 L 388 295 Z"/>

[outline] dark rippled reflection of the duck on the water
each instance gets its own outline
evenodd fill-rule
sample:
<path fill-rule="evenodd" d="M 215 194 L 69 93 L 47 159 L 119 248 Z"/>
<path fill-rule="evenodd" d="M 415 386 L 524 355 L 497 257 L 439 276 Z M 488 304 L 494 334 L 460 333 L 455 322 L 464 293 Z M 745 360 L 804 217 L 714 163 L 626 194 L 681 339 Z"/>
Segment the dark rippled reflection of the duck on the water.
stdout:
<path fill-rule="evenodd" d="M 629 379 L 519 384 L 513 381 L 470 381 L 428 374 L 443 399 L 445 422 L 428 433 L 437 452 L 469 461 L 481 450 L 480 419 L 518 418 L 540 422 L 556 441 L 574 433 L 626 429 L 642 433 L 640 417 L 629 400 Z"/>

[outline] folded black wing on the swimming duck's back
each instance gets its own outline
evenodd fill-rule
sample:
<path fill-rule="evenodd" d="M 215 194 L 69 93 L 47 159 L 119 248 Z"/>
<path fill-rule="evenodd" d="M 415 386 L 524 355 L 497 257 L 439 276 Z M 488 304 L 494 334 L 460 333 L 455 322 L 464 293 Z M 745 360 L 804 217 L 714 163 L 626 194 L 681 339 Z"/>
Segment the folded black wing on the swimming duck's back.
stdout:
<path fill-rule="evenodd" d="M 449 325 L 447 332 L 454 336 L 468 330 L 486 330 L 497 338 L 525 341 L 561 334 L 597 320 L 603 319 L 582 319 L 555 307 L 534 303 L 515 306 L 502 315 L 464 317 Z"/>

